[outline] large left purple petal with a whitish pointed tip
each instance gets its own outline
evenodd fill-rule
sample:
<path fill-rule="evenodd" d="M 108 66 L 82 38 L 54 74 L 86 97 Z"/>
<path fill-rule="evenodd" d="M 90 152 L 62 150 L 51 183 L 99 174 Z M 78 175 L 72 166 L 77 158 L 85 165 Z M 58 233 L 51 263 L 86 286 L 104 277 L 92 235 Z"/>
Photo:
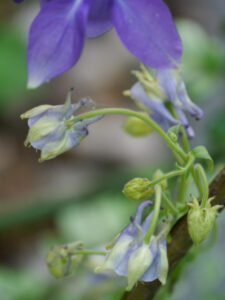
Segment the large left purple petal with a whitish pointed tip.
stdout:
<path fill-rule="evenodd" d="M 38 87 L 77 62 L 88 10 L 86 0 L 54 0 L 42 6 L 29 33 L 29 87 Z"/>

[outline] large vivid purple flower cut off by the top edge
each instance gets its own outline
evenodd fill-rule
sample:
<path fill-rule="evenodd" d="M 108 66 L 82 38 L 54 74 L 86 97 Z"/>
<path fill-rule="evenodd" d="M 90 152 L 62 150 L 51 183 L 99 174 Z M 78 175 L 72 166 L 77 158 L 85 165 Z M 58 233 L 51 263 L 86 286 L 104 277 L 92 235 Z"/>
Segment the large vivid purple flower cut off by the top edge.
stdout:
<path fill-rule="evenodd" d="M 17 1 L 18 2 L 18 1 Z M 115 28 L 125 47 L 153 68 L 174 68 L 182 45 L 162 0 L 41 0 L 28 43 L 28 86 L 71 68 L 85 38 Z"/>

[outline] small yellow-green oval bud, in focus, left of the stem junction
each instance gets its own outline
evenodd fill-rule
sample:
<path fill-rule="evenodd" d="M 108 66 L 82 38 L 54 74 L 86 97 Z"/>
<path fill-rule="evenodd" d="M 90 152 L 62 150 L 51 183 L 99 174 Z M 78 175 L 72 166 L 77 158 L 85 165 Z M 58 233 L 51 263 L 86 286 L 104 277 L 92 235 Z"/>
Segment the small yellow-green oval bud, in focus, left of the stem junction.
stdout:
<path fill-rule="evenodd" d="M 151 181 L 147 178 L 134 178 L 123 188 L 123 193 L 129 199 L 142 201 L 154 193 L 154 188 L 149 186 Z"/>

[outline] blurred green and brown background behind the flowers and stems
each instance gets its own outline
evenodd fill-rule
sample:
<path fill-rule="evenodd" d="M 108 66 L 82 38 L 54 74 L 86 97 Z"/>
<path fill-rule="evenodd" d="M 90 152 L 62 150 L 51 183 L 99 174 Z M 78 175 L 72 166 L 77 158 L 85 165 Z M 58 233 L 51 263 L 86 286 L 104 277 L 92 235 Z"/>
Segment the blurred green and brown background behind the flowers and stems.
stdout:
<path fill-rule="evenodd" d="M 183 40 L 183 74 L 189 94 L 205 112 L 200 122 L 190 120 L 197 136 L 191 143 L 205 145 L 218 170 L 225 152 L 224 1 L 166 2 Z M 38 10 L 38 1 L 0 3 L 0 299 L 117 300 L 123 283 L 94 276 L 89 271 L 94 261 L 73 277 L 56 280 L 48 273 L 44 257 L 55 244 L 82 240 L 86 247 L 97 247 L 109 242 L 127 225 L 137 206 L 122 195 L 124 184 L 133 177 L 149 177 L 156 168 L 167 171 L 172 157 L 155 133 L 130 137 L 121 129 L 123 117 L 108 116 L 90 126 L 89 136 L 79 147 L 38 163 L 39 154 L 23 145 L 27 124 L 20 120 L 21 113 L 40 104 L 64 103 L 71 87 L 74 102 L 91 97 L 89 110 L 135 108 L 122 91 L 135 82 L 131 70 L 139 67 L 110 31 L 86 41 L 72 70 L 41 88 L 27 90 L 27 33 Z M 222 232 L 225 214 L 219 219 Z M 189 299 L 190 284 L 199 287 L 192 289 L 192 299 L 225 299 L 221 254 L 225 245 L 220 235 L 218 241 L 207 251 L 198 250 L 204 252 L 202 256 L 196 249 L 189 253 L 177 271 L 186 276 L 181 274 L 169 299 Z M 209 264 L 209 257 L 220 257 L 223 264 L 214 260 Z M 190 260 L 194 263 L 186 272 Z M 159 299 L 168 292 L 164 290 Z"/>

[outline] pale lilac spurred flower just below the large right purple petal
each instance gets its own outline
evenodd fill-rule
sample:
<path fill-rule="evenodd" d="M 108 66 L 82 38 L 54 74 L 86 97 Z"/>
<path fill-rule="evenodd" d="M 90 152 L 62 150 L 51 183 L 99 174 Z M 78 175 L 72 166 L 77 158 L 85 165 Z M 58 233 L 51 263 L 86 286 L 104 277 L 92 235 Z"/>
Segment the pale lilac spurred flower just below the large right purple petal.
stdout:
<path fill-rule="evenodd" d="M 189 112 L 196 120 L 202 118 L 203 112 L 189 98 L 180 70 L 157 70 L 155 77 L 143 66 L 142 70 L 143 72 L 134 72 L 139 81 L 129 91 L 131 98 L 139 107 L 147 110 L 151 118 L 165 131 L 181 123 L 188 137 L 193 138 L 194 130 L 189 125 L 184 111 Z M 166 102 L 172 104 L 179 120 L 168 110 Z"/>

